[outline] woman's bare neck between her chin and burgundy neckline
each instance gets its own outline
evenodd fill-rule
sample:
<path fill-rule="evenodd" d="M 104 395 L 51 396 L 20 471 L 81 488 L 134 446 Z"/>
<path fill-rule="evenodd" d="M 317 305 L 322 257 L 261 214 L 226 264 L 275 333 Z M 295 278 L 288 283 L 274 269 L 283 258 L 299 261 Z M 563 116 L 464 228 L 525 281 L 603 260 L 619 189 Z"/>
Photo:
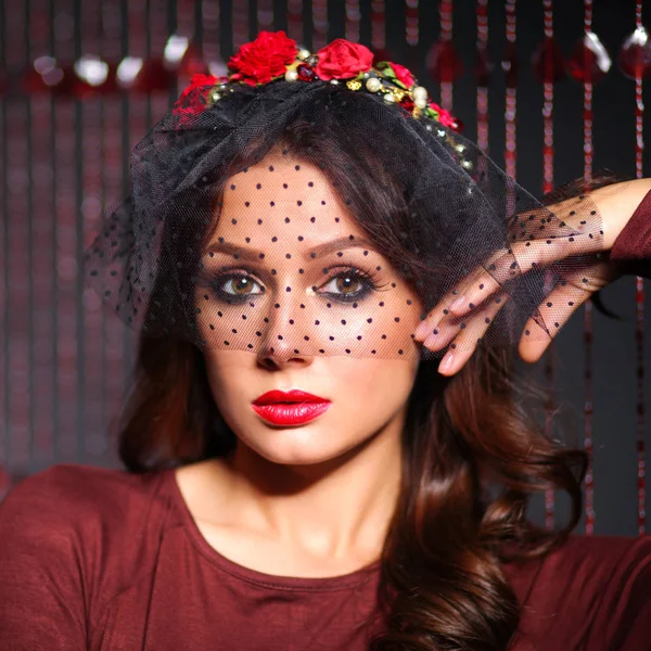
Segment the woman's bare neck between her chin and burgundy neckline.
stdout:
<path fill-rule="evenodd" d="M 238 444 L 226 462 L 242 526 L 316 559 L 380 556 L 401 485 L 404 411 L 363 444 L 318 464 L 278 464 Z"/>

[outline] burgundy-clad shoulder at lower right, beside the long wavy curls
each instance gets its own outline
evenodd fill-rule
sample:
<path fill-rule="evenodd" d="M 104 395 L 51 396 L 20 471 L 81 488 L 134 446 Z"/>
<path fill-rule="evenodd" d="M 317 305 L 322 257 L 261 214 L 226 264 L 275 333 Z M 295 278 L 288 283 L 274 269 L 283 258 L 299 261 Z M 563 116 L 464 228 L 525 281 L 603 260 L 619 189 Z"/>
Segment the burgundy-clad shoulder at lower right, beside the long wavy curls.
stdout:
<path fill-rule="evenodd" d="M 513 565 L 507 574 L 532 639 L 558 638 L 582 649 L 651 644 L 649 535 L 571 535 L 544 559 Z"/>

